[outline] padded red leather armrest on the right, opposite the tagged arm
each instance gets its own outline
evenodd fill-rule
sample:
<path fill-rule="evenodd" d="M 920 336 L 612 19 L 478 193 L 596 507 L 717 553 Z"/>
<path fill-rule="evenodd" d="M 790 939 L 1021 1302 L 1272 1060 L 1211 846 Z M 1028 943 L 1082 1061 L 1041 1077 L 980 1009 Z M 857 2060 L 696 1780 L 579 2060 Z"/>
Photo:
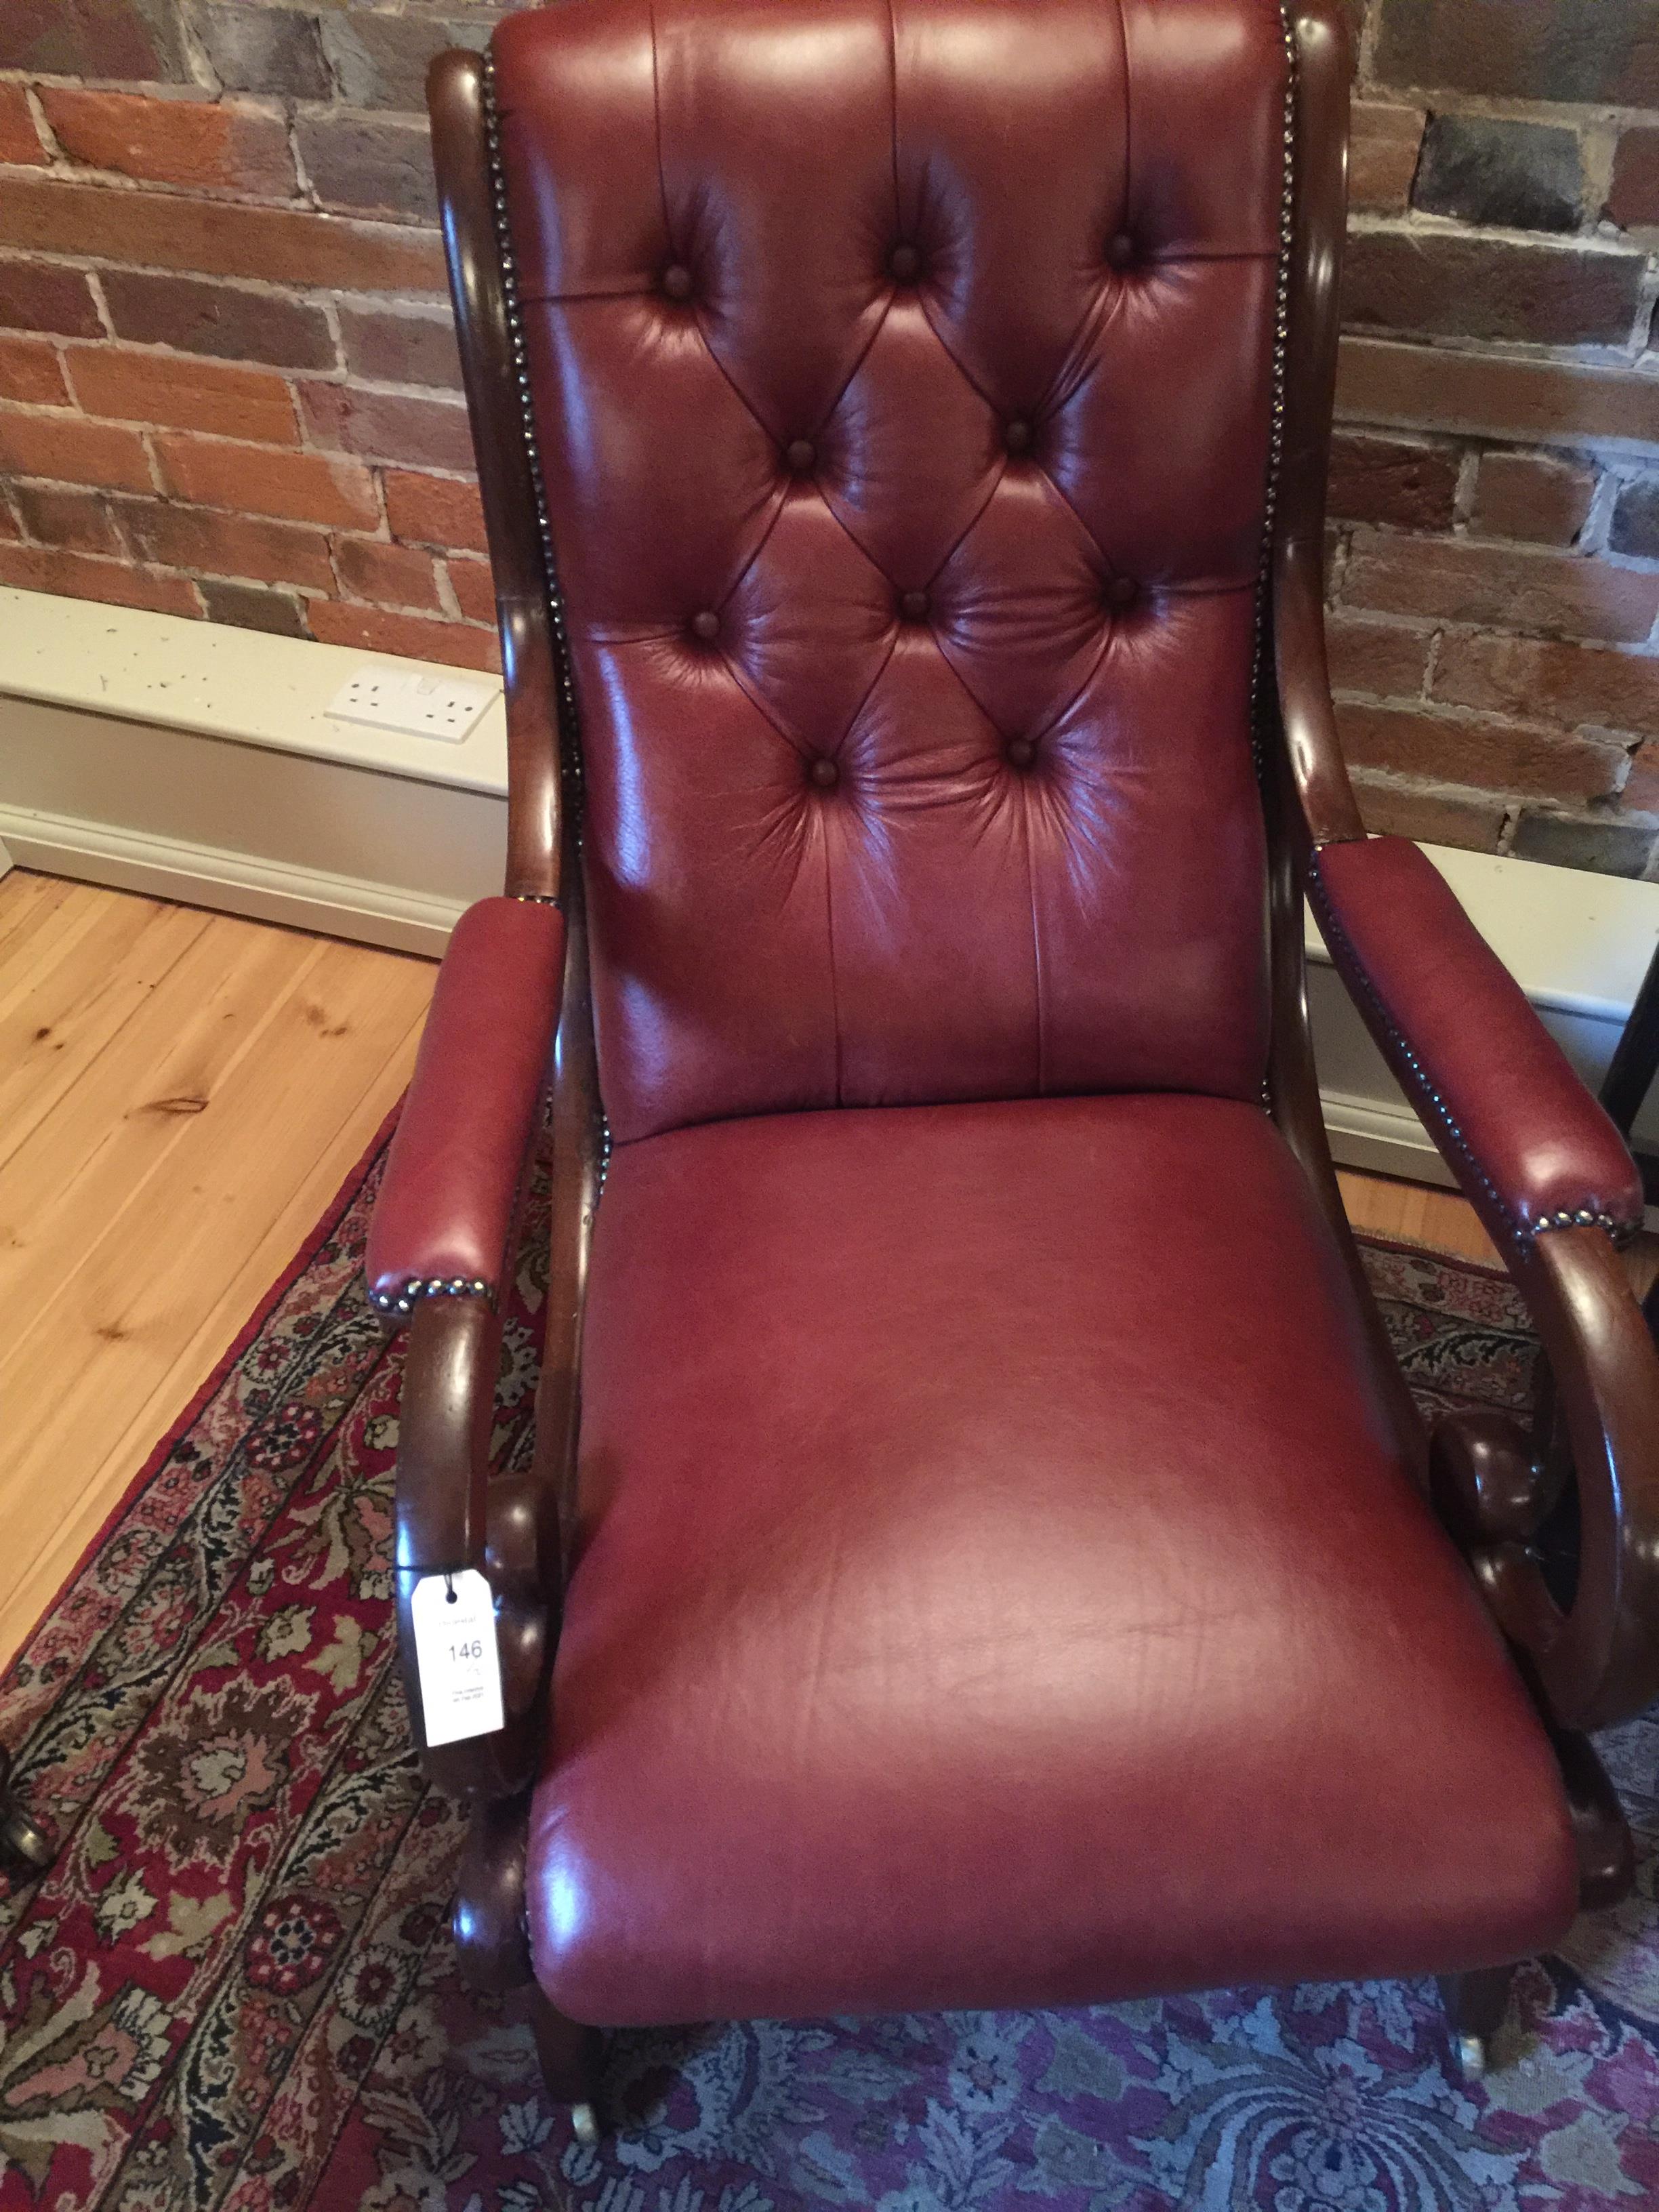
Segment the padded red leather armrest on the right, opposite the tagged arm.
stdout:
<path fill-rule="evenodd" d="M 1641 1181 L 1526 995 L 1405 838 L 1321 847 L 1310 898 L 1383 1057 L 1500 1245 L 1641 1228 Z"/>

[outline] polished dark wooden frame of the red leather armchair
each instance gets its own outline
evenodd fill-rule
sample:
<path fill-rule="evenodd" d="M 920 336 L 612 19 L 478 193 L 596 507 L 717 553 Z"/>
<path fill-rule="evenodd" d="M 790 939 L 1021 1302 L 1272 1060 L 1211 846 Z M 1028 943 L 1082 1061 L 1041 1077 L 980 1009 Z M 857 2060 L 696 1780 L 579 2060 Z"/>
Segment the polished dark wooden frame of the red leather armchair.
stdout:
<path fill-rule="evenodd" d="M 1632 1880 L 1630 1834 L 1586 1730 L 1659 1694 L 1659 1356 L 1601 1225 L 1515 1234 L 1506 1261 L 1546 1349 L 1531 1433 L 1500 1416 L 1422 1425 L 1365 1285 L 1343 1212 L 1307 1024 L 1303 896 L 1312 856 L 1365 836 L 1329 697 L 1323 622 L 1325 478 L 1336 389 L 1338 274 L 1347 210 L 1349 42 L 1343 0 L 1285 0 L 1292 93 L 1274 394 L 1270 544 L 1256 748 L 1270 847 L 1272 1046 L 1267 1104 L 1343 1248 L 1409 1462 L 1469 1559 L 1557 1745 L 1579 1838 L 1582 1902 Z M 500 1316 L 489 1296 L 416 1301 L 396 1489 L 403 1648 L 422 1573 L 482 1568 L 495 1590 L 504 1728 L 425 1747 L 425 1774 L 471 1805 L 456 1936 L 480 1989 L 531 1982 L 524 1836 L 557 1639 L 564 1535 L 575 1493 L 580 1327 L 588 1237 L 608 1135 L 599 1108 L 582 925 L 577 701 L 529 407 L 507 243 L 491 64 L 442 53 L 429 77 L 431 137 L 507 677 L 507 894 L 566 916 L 566 982 L 551 1088 L 553 1252 L 535 1464 L 491 1480 L 489 1413 Z M 1385 1044 L 1387 1040 L 1378 1037 Z M 1566 1608 L 1537 1537 L 1577 1498 L 1577 1586 Z M 1447 1991 L 1460 2053 L 1482 2059 L 1509 1969 Z M 553 2093 L 593 2097 L 595 2037 L 533 1997 Z M 591 2110 L 580 2112 L 580 2124 Z"/>

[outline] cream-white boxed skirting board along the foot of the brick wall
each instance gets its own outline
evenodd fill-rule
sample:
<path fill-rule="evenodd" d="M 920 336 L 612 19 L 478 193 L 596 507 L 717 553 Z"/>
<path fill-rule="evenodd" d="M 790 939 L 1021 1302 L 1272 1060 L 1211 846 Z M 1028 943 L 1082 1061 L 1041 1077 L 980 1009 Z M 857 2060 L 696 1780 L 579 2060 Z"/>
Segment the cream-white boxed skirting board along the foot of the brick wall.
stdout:
<path fill-rule="evenodd" d="M 0 591 L 0 872 L 9 854 L 20 867 L 440 953 L 462 907 L 502 880 L 502 703 L 465 745 L 332 721 L 327 701 L 365 666 L 418 664 Z M 1429 854 L 1597 1084 L 1659 942 L 1659 885 Z M 1312 922 L 1307 949 L 1338 1161 L 1451 1183 Z M 1637 1135 L 1659 1150 L 1652 1099 Z"/>

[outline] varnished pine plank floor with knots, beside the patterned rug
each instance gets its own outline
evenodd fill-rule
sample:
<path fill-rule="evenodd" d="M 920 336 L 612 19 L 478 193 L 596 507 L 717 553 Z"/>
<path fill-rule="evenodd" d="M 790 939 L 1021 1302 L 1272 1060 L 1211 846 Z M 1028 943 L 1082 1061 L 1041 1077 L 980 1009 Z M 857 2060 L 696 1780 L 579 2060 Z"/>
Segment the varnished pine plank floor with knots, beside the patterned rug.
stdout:
<path fill-rule="evenodd" d="M 0 1666 L 396 1104 L 434 978 L 0 878 Z M 1447 1190 L 1343 1175 L 1343 1197 L 1376 1237 L 1495 1261 Z"/>

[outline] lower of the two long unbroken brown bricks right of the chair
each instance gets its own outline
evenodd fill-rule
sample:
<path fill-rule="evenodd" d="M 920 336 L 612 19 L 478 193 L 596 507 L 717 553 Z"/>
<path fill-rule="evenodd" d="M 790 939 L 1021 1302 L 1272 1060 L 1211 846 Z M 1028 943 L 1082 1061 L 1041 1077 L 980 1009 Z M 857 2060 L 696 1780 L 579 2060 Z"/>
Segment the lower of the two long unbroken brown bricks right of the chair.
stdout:
<path fill-rule="evenodd" d="M 1343 571 L 1343 604 L 1478 628 L 1639 644 L 1659 617 L 1659 575 L 1467 538 L 1360 531 Z"/>

